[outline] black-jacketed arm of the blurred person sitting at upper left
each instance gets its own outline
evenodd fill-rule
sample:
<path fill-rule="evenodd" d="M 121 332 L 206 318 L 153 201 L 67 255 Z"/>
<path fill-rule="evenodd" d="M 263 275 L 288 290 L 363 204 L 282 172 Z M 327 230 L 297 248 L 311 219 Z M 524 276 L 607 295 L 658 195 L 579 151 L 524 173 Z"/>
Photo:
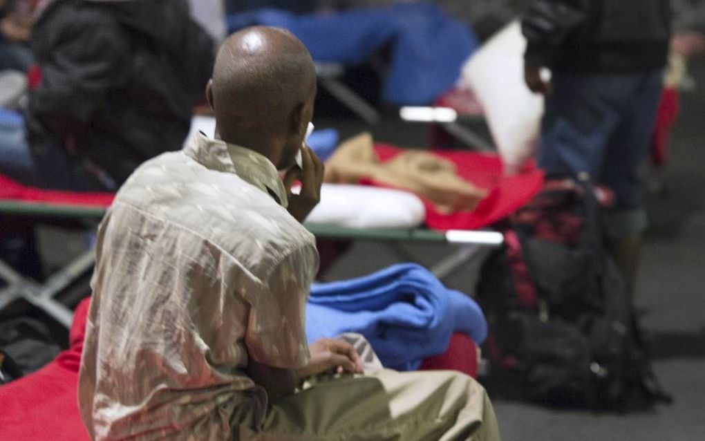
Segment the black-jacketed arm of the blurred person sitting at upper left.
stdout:
<path fill-rule="evenodd" d="M 30 112 L 63 138 L 85 128 L 111 87 L 127 78 L 129 42 L 104 12 L 66 8 L 45 18 L 49 56 L 39 56 L 42 80 L 30 93 Z"/>

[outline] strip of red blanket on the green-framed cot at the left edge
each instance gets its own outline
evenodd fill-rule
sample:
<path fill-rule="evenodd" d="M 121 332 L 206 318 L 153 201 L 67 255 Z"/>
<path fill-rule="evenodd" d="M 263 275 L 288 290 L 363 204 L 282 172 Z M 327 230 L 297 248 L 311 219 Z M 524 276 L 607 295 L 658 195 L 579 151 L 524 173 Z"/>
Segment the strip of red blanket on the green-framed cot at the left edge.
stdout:
<path fill-rule="evenodd" d="M 43 190 L 24 186 L 0 174 L 0 199 L 51 203 L 51 205 L 85 205 L 108 207 L 115 197 L 112 193 Z"/>

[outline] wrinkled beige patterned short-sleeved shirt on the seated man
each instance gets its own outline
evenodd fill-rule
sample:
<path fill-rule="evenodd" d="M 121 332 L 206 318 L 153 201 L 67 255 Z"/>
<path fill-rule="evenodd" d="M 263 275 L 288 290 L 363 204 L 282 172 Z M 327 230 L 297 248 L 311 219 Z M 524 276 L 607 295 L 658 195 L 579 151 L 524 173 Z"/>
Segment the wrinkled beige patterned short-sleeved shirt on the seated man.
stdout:
<path fill-rule="evenodd" d="M 99 228 L 79 403 L 96 440 L 230 440 L 266 394 L 248 357 L 305 366 L 313 236 L 274 164 L 198 134 L 145 163 Z"/>

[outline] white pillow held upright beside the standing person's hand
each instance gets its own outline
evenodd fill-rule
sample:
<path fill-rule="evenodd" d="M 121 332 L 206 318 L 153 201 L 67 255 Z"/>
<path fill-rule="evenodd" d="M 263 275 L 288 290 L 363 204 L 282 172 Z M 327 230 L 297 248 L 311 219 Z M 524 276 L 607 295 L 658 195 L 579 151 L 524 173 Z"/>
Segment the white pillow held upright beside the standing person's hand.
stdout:
<path fill-rule="evenodd" d="M 510 23 L 470 57 L 460 80 L 482 104 L 507 174 L 533 157 L 544 114 L 544 97 L 524 82 L 526 45 L 520 23 Z"/>

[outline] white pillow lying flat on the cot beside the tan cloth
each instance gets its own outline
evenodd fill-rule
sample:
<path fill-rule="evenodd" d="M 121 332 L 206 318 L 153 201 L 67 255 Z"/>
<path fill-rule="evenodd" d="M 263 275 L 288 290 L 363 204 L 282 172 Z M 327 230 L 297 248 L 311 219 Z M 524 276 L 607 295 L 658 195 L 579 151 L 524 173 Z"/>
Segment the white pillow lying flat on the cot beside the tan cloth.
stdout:
<path fill-rule="evenodd" d="M 407 191 L 324 183 L 306 222 L 349 228 L 409 228 L 426 219 L 424 203 Z"/>

